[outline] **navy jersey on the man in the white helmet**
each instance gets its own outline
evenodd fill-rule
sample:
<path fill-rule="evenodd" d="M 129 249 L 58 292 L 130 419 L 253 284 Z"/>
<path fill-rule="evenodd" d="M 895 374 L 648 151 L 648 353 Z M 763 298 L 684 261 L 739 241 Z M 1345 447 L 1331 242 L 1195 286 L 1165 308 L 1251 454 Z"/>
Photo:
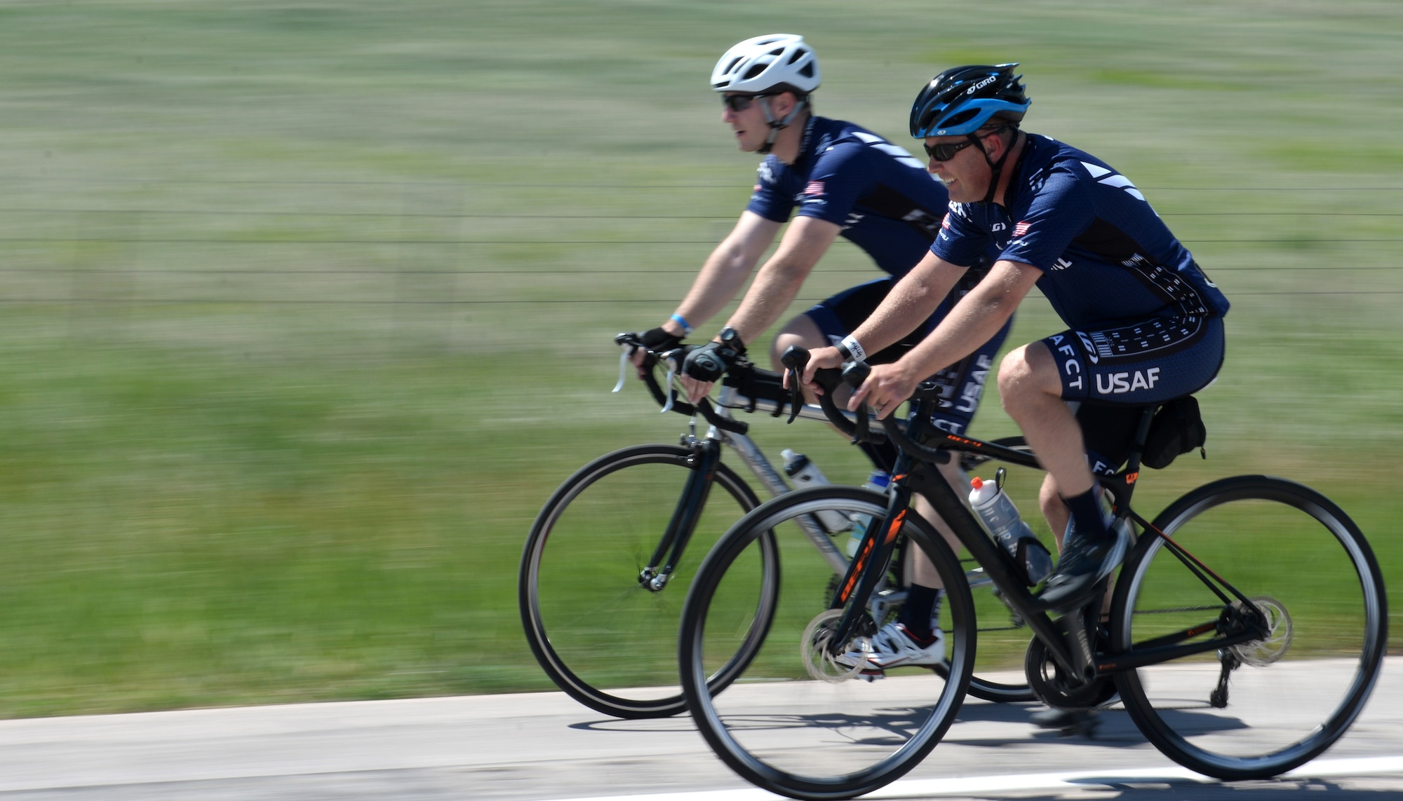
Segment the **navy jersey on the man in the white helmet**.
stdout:
<path fill-rule="evenodd" d="M 899 277 L 926 255 L 947 203 L 944 185 L 906 150 L 850 122 L 814 116 L 794 164 L 774 155 L 760 162 L 746 210 L 786 223 L 798 206 L 803 217 L 842 225 L 842 237 Z"/>

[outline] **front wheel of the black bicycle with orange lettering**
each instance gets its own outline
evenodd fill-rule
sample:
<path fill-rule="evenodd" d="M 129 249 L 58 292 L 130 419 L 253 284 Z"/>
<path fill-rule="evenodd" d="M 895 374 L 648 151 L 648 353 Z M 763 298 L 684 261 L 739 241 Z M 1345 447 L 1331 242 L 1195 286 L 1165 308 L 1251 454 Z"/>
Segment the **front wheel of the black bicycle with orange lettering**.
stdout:
<path fill-rule="evenodd" d="M 950 588 L 946 604 L 950 660 L 941 671 L 946 675 L 918 668 L 915 676 L 895 675 L 880 682 L 840 675 L 818 681 L 803 667 L 804 654 L 814 653 L 814 643 L 804 637 L 815 630 L 822 633 L 814 623 L 829 613 L 822 587 L 831 571 L 812 549 L 786 548 L 790 538 L 803 536 L 790 521 L 821 508 L 881 515 L 885 506 L 884 494 L 840 486 L 798 490 L 766 501 L 737 522 L 707 555 L 687 592 L 678 650 L 693 721 L 727 766 L 770 793 L 826 801 L 877 790 L 925 759 L 960 711 L 974 665 L 972 601 L 954 553 L 913 510 L 906 510 L 902 534 L 930 555 Z M 779 539 L 784 559 L 774 622 L 745 675 L 717 695 L 706 681 L 711 672 L 713 632 L 718 632 L 720 640 L 714 653 L 724 655 L 731 647 L 732 615 L 727 604 L 731 574 L 752 570 L 749 550 L 767 534 Z M 742 576 L 739 585 L 749 581 Z"/>

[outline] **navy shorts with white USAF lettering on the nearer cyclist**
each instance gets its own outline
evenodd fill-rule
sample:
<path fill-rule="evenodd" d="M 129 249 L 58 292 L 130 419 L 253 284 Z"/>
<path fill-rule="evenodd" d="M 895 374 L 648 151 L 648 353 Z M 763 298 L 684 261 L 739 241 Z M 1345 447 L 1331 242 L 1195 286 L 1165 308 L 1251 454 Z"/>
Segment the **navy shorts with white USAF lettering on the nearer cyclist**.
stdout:
<path fill-rule="evenodd" d="M 1223 363 L 1219 316 L 1157 316 L 1101 330 L 1063 330 L 1042 340 L 1062 377 L 1062 398 L 1160 403 L 1193 395 Z"/>

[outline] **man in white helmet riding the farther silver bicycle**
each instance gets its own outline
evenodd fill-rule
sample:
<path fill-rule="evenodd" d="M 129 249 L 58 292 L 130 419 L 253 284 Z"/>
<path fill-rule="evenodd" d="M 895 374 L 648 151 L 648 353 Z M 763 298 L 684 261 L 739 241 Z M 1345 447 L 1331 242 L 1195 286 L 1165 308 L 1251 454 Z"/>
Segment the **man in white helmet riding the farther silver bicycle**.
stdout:
<path fill-rule="evenodd" d="M 788 321 L 770 349 L 776 370 L 781 370 L 779 354 L 793 344 L 814 349 L 849 337 L 926 255 L 940 230 L 948 202 L 944 186 L 906 150 L 850 122 L 815 116 L 811 92 L 818 85 L 814 49 L 803 36 L 790 34 L 746 39 L 727 50 L 711 73 L 711 88 L 721 94 L 721 122 L 735 132 L 742 151 L 763 153 L 766 158 L 741 218 L 711 252 L 672 316 L 643 335 L 644 343 L 655 351 L 675 347 L 721 311 L 786 221 L 788 228 L 721 333 L 687 356 L 683 384 L 692 400 L 704 396 L 711 382 L 745 354 L 745 344 L 779 321 L 835 238 L 842 235 L 856 244 L 888 276 L 839 293 Z M 790 221 L 796 206 L 797 216 Z M 864 356 L 884 363 L 909 350 L 978 283 L 986 263 L 947 286 L 909 336 L 894 337 Z M 937 426 L 962 433 L 969 424 L 1007 328 L 991 330 L 979 347 L 933 371 L 946 393 Z M 636 354 L 640 370 L 641 357 Z M 868 452 L 890 468 L 894 451 Z M 885 667 L 943 661 L 944 643 L 933 623 L 939 601 L 934 569 L 929 563 L 918 566 L 899 629 L 894 623 L 878 637 L 894 644 L 887 648 Z"/>

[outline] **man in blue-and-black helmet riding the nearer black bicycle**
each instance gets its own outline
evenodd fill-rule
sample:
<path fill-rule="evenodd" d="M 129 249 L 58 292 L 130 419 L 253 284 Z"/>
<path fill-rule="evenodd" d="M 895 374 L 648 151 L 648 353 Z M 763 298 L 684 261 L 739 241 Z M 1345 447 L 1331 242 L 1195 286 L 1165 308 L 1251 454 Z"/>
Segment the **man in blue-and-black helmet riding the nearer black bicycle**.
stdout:
<path fill-rule="evenodd" d="M 897 342 L 993 245 L 989 273 L 915 349 L 875 365 L 853 392 L 885 417 L 933 370 L 958 363 L 1007 323 L 1034 284 L 1069 326 L 1013 349 L 999 367 L 1003 408 L 1047 469 L 1040 504 L 1061 557 L 1040 598 L 1065 612 L 1090 601 L 1120 564 L 1128 532 L 1108 529 L 1093 468 L 1114 461 L 1085 450 L 1104 409 L 1188 395 L 1218 374 L 1228 300 L 1174 238 L 1134 183 L 1104 161 L 1020 130 L 1030 99 L 1016 63 L 936 76 L 911 109 L 950 211 L 932 255 L 911 270 L 853 332 L 861 350 Z M 854 351 L 850 346 L 846 349 Z M 805 372 L 854 353 L 812 354 Z M 812 386 L 812 385 L 811 385 Z M 1069 406 L 1082 403 L 1073 412 Z M 1104 405 L 1104 406 L 1103 406 Z M 1080 419 L 1080 424 L 1079 424 Z"/>

